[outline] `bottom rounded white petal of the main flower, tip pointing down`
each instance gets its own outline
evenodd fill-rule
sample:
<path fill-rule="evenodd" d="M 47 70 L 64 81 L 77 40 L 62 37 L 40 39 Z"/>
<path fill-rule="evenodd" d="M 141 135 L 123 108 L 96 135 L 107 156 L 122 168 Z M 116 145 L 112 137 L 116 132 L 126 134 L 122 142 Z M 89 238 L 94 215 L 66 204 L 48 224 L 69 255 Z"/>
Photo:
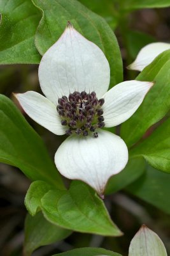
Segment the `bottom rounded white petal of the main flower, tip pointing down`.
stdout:
<path fill-rule="evenodd" d="M 102 130 L 98 134 L 69 136 L 58 148 L 55 164 L 68 179 L 83 180 L 103 195 L 108 179 L 127 164 L 128 150 L 119 136 Z"/>

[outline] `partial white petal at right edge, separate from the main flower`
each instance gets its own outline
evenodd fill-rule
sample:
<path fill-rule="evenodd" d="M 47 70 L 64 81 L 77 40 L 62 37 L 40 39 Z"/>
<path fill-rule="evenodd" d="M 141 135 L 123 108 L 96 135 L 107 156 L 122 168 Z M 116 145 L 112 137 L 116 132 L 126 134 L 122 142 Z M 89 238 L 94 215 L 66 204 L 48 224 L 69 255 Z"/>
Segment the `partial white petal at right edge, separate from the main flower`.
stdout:
<path fill-rule="evenodd" d="M 139 51 L 136 60 L 127 68 L 131 70 L 142 71 L 162 52 L 169 50 L 170 44 L 167 43 L 152 43 L 148 44 Z"/>

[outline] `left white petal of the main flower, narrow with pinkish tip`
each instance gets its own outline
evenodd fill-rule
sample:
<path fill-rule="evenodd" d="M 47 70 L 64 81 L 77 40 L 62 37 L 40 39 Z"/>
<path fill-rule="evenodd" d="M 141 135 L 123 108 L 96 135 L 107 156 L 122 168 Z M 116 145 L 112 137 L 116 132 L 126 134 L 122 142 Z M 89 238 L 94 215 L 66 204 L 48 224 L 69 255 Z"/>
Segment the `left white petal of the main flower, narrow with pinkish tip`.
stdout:
<path fill-rule="evenodd" d="M 15 97 L 24 111 L 34 121 L 57 135 L 65 134 L 66 128 L 60 124 L 55 105 L 37 92 L 17 93 Z"/>

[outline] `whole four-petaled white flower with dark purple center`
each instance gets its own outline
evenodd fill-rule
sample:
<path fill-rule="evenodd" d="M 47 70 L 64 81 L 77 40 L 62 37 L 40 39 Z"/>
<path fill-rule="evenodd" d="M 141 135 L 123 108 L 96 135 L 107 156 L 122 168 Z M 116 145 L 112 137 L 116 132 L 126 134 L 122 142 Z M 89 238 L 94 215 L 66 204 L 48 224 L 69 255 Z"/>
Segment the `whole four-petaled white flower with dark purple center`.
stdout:
<path fill-rule="evenodd" d="M 55 154 L 59 172 L 87 182 L 103 195 L 111 175 L 127 164 L 128 150 L 119 136 L 101 128 L 127 120 L 153 83 L 127 81 L 107 92 L 106 57 L 70 23 L 44 54 L 39 82 L 46 97 L 26 92 L 16 95 L 18 101 L 27 115 L 49 131 L 71 134 Z"/>

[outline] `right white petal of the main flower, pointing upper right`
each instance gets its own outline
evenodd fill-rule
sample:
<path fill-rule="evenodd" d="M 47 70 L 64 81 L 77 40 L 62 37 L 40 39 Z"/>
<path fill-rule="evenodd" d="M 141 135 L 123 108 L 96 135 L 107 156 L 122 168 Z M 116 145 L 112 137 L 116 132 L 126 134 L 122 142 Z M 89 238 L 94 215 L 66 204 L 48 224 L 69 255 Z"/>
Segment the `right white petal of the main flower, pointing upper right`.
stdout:
<path fill-rule="evenodd" d="M 103 96 L 105 127 L 122 124 L 139 108 L 152 82 L 125 81 L 117 84 Z"/>

